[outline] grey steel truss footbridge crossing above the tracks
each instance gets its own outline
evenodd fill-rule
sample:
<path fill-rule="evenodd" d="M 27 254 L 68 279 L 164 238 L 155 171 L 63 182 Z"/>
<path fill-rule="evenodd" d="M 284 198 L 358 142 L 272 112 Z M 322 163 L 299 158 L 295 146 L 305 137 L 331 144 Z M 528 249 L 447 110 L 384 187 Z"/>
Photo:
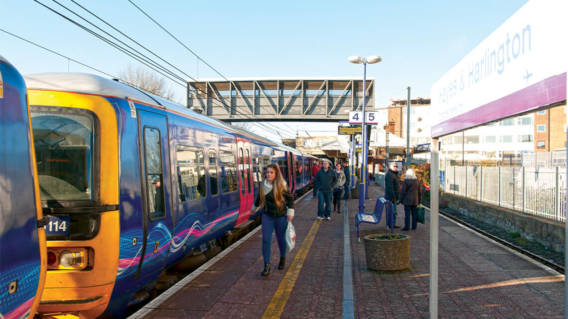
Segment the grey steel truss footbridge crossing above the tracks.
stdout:
<path fill-rule="evenodd" d="M 373 77 L 366 80 L 366 110 L 374 109 Z M 187 107 L 227 122 L 337 122 L 361 110 L 363 79 L 235 78 L 187 82 Z"/>

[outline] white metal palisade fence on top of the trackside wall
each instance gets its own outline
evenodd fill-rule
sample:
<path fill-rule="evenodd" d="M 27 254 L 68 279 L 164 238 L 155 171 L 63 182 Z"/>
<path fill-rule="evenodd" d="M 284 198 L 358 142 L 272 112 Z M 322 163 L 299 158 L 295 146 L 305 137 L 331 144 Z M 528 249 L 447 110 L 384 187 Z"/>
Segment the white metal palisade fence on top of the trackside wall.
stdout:
<path fill-rule="evenodd" d="M 454 165 L 441 171 L 445 192 L 565 222 L 566 167 Z"/>

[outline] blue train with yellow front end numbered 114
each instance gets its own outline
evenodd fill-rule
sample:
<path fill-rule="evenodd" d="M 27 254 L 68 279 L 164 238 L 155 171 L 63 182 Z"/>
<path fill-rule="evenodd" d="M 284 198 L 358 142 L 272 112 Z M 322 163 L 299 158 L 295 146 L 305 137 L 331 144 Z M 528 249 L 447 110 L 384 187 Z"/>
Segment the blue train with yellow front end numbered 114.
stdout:
<path fill-rule="evenodd" d="M 296 195 L 312 183 L 314 156 L 123 82 L 24 78 L 50 225 L 41 317 L 122 318 L 167 288 L 166 270 L 258 225 L 266 165 Z"/>

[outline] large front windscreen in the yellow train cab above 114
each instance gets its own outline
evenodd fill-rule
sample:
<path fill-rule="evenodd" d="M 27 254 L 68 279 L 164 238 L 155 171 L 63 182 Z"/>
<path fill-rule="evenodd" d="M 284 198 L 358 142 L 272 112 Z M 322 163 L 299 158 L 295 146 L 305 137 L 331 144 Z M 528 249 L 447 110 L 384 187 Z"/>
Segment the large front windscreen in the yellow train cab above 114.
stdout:
<path fill-rule="evenodd" d="M 97 127 L 94 114 L 31 112 L 43 201 L 93 201 Z"/>

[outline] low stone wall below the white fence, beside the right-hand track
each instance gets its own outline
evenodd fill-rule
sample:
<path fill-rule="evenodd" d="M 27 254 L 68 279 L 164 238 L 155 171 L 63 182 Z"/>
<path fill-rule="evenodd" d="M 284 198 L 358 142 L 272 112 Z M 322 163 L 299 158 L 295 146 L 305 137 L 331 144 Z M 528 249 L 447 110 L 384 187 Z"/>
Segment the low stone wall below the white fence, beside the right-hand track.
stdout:
<path fill-rule="evenodd" d="M 450 193 L 443 193 L 442 199 L 448 202 L 449 208 L 457 210 L 463 215 L 489 225 L 501 227 L 507 231 L 518 231 L 522 237 L 541 243 L 556 252 L 564 252 L 565 225 L 563 223 L 549 221 L 548 219 L 470 200 L 469 198 Z"/>

